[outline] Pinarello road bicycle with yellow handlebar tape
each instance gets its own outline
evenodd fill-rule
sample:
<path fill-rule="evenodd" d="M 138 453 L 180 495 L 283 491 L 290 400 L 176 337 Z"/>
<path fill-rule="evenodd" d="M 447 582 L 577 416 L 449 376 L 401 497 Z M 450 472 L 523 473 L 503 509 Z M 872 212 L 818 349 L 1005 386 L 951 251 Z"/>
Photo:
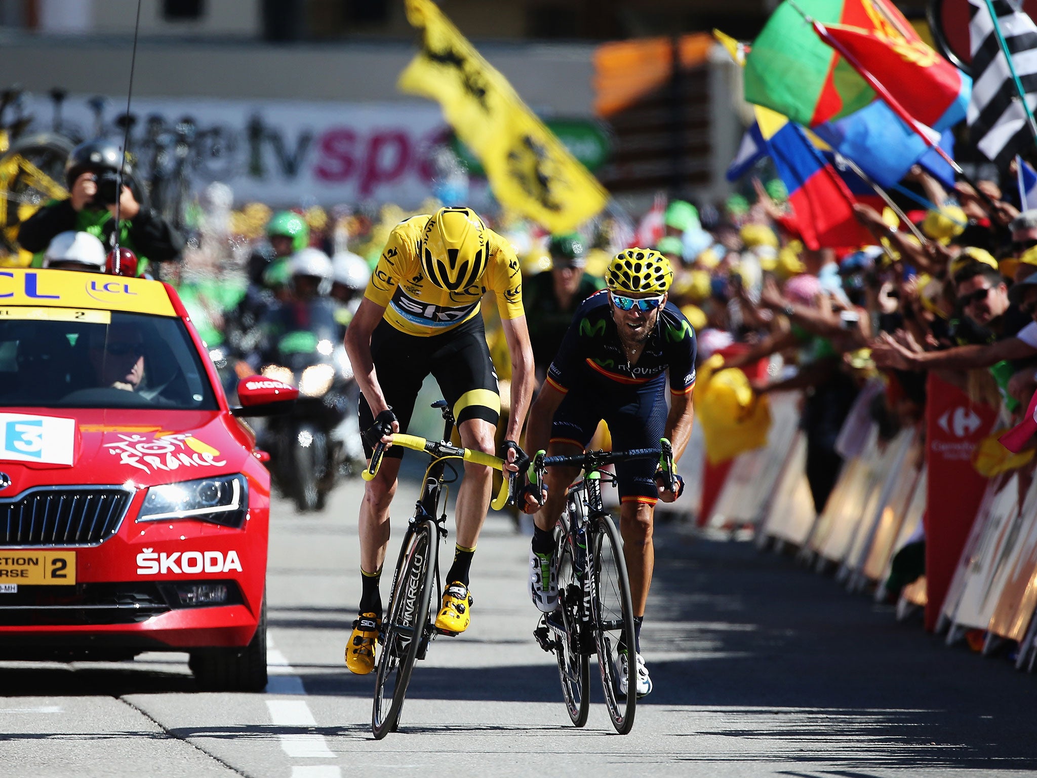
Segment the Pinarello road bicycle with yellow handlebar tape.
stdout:
<path fill-rule="evenodd" d="M 452 445 L 449 441 L 454 427 L 453 414 L 442 399 L 433 402 L 432 408 L 438 408 L 443 413 L 443 440 L 429 441 L 413 435 L 396 434 L 392 436 L 390 444 L 424 451 L 432 461 L 425 470 L 421 497 L 403 535 L 393 573 L 389 608 L 379 632 L 382 656 L 374 676 L 374 705 L 371 713 L 371 731 L 377 740 L 395 731 L 399 725 L 399 715 L 414 663 L 425 658 L 429 643 L 438 635 L 456 635 L 437 629 L 437 609 L 430 607 L 433 598 L 437 604 L 443 599 L 439 547 L 440 540 L 445 540 L 447 536 L 446 504 L 449 484 L 459 478 L 450 460 L 485 465 L 495 470 L 501 470 L 504 465 L 503 460 L 492 454 Z M 375 476 L 387 447 L 383 443 L 375 446 L 370 464 L 361 473 L 364 480 L 371 480 Z M 449 476 L 448 470 L 451 471 Z M 492 503 L 494 509 L 500 510 L 512 499 L 515 484 L 514 476 L 503 479 L 501 490 Z"/>

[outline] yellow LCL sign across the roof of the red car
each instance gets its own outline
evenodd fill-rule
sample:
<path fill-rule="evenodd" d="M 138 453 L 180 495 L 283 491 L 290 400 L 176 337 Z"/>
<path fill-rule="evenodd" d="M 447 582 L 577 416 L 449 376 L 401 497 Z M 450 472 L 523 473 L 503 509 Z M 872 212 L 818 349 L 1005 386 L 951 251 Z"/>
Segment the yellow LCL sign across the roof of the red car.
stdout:
<path fill-rule="evenodd" d="M 176 315 L 159 281 L 64 270 L 0 268 L 0 306 L 7 305 Z"/>

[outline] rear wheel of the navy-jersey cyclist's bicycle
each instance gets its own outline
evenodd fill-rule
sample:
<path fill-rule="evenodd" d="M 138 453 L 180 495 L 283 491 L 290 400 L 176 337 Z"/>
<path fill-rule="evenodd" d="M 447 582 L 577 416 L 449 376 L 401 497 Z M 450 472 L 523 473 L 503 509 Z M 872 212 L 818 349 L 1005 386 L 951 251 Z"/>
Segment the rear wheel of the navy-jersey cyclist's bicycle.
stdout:
<path fill-rule="evenodd" d="M 555 548 L 558 559 L 558 613 L 564 635 L 555 636 L 555 659 L 562 682 L 562 697 L 572 724 L 582 727 L 590 711 L 590 657 L 581 650 L 580 601 L 583 594 L 565 527 Z"/>

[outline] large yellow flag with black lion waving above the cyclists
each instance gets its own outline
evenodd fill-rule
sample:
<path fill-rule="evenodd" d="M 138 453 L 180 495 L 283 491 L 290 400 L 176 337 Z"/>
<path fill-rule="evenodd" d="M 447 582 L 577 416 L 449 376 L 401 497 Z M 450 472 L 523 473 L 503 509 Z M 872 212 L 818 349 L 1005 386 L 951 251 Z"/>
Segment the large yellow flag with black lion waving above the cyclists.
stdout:
<path fill-rule="evenodd" d="M 502 205 L 552 232 L 568 232 L 605 207 L 608 193 L 431 0 L 407 0 L 423 31 L 401 91 L 431 98 L 479 158 Z"/>

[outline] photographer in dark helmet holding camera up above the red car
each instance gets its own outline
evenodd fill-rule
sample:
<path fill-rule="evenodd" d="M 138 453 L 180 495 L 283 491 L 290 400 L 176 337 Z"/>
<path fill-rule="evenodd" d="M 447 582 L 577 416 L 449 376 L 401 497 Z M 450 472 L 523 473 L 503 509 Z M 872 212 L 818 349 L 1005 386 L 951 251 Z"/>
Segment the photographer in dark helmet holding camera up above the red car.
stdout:
<path fill-rule="evenodd" d="M 33 267 L 43 266 L 43 252 L 51 240 L 67 230 L 89 232 L 106 247 L 111 245 L 121 159 L 118 146 L 107 140 L 87 141 L 73 149 L 65 166 L 67 199 L 45 205 L 19 228 L 22 248 L 36 254 Z M 140 258 L 139 273 L 143 273 L 148 260 L 178 259 L 184 239 L 157 212 L 141 204 L 143 197 L 131 176 L 129 163 L 123 167 L 123 176 L 119 245 Z"/>

